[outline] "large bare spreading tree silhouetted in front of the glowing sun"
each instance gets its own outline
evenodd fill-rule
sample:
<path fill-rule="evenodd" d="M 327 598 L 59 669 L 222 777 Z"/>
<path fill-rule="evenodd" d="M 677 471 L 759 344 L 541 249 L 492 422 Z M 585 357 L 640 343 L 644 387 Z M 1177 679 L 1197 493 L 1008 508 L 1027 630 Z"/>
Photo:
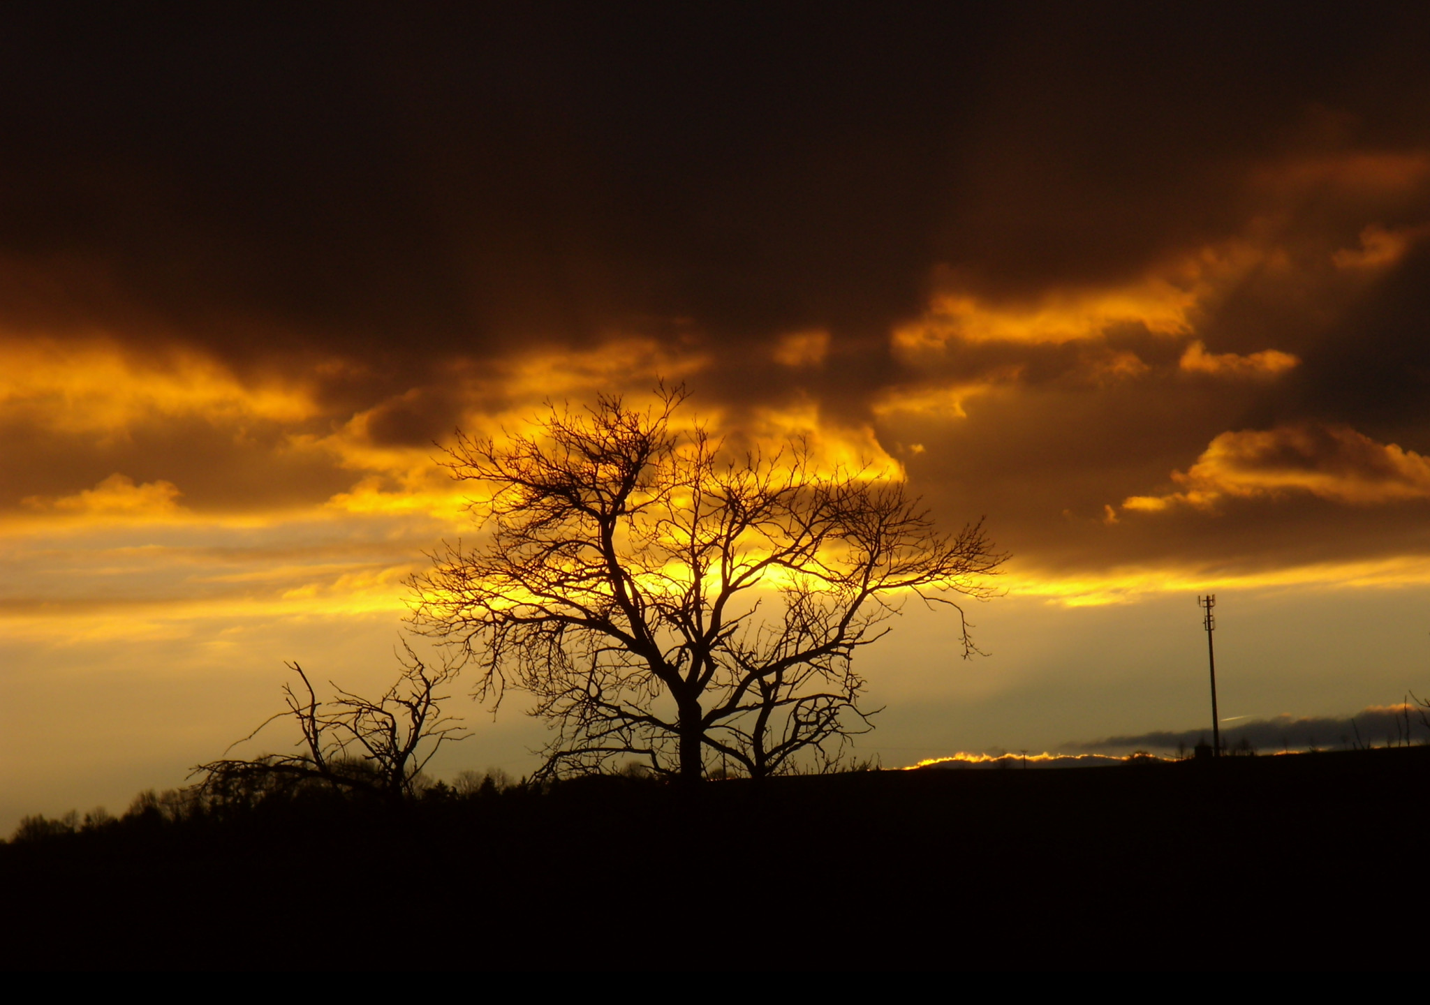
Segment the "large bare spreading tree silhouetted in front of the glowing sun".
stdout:
<path fill-rule="evenodd" d="M 821 470 L 802 440 L 736 455 L 675 422 L 685 399 L 548 406 L 529 435 L 448 450 L 486 538 L 433 556 L 412 620 L 480 668 L 480 698 L 535 696 L 546 776 L 828 768 L 869 728 L 852 656 L 907 598 L 948 605 L 977 652 L 955 598 L 992 596 L 1005 558 L 981 522 L 940 532 L 901 482 Z"/>

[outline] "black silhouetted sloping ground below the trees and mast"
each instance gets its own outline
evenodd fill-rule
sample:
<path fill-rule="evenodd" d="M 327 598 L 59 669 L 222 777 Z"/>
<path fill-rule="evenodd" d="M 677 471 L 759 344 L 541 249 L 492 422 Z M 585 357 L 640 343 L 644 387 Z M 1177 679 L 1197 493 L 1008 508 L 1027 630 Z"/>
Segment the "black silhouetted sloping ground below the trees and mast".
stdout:
<path fill-rule="evenodd" d="M 1419 969 L 1427 866 L 1430 748 L 595 779 L 6 845 L 3 962 Z"/>

